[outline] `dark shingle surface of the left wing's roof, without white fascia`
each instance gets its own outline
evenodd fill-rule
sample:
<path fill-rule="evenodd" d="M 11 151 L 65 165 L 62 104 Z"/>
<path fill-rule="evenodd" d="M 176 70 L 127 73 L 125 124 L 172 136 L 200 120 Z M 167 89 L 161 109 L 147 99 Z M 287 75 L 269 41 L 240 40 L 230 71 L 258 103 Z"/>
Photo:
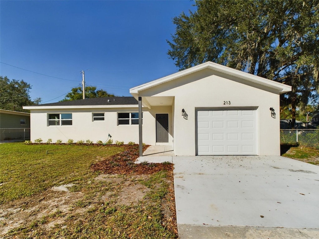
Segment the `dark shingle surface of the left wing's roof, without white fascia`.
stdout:
<path fill-rule="evenodd" d="M 98 97 L 81 100 L 70 100 L 32 106 L 76 106 L 76 105 L 138 105 L 134 97 Z"/>

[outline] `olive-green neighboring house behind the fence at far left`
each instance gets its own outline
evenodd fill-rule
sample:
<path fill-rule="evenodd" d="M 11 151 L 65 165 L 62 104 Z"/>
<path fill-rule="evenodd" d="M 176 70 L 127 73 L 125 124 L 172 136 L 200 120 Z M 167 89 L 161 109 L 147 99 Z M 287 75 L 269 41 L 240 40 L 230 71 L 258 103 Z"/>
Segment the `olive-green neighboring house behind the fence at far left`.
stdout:
<path fill-rule="evenodd" d="M 29 128 L 29 113 L 0 109 L 0 140 L 30 138 Z"/>

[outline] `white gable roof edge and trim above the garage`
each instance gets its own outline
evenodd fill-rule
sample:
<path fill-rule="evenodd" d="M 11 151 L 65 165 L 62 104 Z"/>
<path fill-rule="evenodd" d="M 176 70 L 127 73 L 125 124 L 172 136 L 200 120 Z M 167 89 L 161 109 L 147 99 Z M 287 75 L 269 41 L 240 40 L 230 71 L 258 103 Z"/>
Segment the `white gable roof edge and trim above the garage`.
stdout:
<path fill-rule="evenodd" d="M 279 83 L 276 81 L 268 80 L 266 78 L 263 78 L 260 76 L 255 76 L 255 75 L 252 75 L 252 74 L 240 71 L 240 70 L 236 70 L 236 69 L 233 69 L 233 68 L 230 68 L 227 66 L 223 66 L 223 65 L 220 65 L 217 63 L 205 62 L 205 63 L 202 63 L 200 65 L 191 67 L 189 69 L 179 71 L 179 72 L 174 73 L 172 75 L 165 76 L 165 77 L 162 77 L 160 79 L 133 87 L 130 89 L 130 93 L 131 94 L 138 94 L 139 91 L 143 91 L 143 90 L 149 89 L 151 87 L 155 87 L 159 84 L 162 84 L 162 83 L 165 83 L 168 81 L 172 81 L 174 79 L 189 75 L 191 73 L 194 73 L 194 72 L 197 72 L 197 71 L 200 71 L 203 69 L 212 69 L 212 70 L 215 70 L 217 72 L 224 73 L 226 75 L 235 76 L 235 77 L 238 77 L 238 78 L 246 80 L 246 81 L 257 83 L 257 84 L 269 87 L 271 89 L 274 89 L 274 90 L 278 91 L 279 94 L 291 91 L 291 86 L 289 86 L 289 85 L 285 85 L 285 84 L 282 84 L 282 83 Z"/>

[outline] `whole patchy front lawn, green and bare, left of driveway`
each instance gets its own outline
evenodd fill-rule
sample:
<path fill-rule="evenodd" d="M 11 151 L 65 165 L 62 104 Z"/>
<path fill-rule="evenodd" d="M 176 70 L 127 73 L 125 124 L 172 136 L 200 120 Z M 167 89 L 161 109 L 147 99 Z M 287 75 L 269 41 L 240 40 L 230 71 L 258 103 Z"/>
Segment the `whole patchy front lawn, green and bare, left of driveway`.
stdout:
<path fill-rule="evenodd" d="M 102 172 L 90 170 L 128 148 L 138 150 L 136 145 L 0 144 L 0 238 L 177 238 L 172 171 L 99 181 Z M 69 183 L 70 192 L 49 190 Z M 118 203 L 135 197 L 136 191 L 127 192 L 134 185 L 148 188 L 144 199 Z"/>

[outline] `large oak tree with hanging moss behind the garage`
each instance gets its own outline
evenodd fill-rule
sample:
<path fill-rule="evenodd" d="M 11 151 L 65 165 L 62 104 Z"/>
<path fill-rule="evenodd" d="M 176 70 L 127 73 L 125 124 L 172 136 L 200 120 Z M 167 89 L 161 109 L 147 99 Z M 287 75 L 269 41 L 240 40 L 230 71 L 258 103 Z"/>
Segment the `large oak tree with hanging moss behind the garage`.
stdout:
<path fill-rule="evenodd" d="M 318 0 L 195 1 L 173 18 L 168 55 L 181 70 L 212 61 L 292 86 L 295 109 L 318 94 Z"/>

